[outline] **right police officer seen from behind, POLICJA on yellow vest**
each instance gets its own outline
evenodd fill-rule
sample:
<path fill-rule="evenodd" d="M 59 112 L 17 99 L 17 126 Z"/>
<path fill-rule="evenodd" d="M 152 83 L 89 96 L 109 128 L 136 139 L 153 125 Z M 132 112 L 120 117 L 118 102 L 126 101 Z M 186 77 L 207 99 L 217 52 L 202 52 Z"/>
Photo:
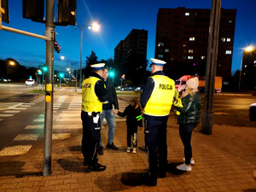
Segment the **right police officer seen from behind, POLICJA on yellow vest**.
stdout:
<path fill-rule="evenodd" d="M 157 184 L 157 173 L 166 177 L 167 145 L 166 126 L 172 108 L 173 97 L 177 95 L 175 83 L 165 76 L 165 61 L 150 59 L 152 76 L 143 86 L 141 104 L 145 124 L 145 146 L 148 151 L 148 172 L 141 174 L 144 184 Z"/>

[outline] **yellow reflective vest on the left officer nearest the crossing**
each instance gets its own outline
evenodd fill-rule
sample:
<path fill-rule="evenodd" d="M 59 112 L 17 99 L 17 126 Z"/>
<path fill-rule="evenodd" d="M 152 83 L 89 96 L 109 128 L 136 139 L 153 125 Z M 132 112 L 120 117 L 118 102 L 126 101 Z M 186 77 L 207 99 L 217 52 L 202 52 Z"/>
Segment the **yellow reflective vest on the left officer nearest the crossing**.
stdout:
<path fill-rule="evenodd" d="M 82 110 L 85 112 L 102 113 L 102 102 L 95 93 L 95 84 L 98 80 L 101 79 L 90 77 L 82 83 Z"/>

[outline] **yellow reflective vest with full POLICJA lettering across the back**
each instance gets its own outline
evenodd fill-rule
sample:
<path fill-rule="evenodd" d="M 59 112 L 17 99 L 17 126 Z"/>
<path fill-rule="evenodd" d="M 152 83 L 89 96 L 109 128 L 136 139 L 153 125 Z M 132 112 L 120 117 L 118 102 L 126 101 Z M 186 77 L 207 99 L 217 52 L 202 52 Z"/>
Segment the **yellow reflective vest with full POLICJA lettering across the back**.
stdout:
<path fill-rule="evenodd" d="M 144 108 L 144 113 L 151 116 L 169 115 L 173 96 L 176 94 L 174 81 L 164 75 L 154 75 L 154 90 Z"/>

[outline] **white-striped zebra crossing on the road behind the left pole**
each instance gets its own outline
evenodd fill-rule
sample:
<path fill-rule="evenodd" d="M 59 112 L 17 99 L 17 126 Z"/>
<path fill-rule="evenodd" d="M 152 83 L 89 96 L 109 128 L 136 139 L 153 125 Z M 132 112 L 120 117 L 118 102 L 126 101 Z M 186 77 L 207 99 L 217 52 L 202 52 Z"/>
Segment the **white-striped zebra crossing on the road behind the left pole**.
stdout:
<path fill-rule="evenodd" d="M 82 121 L 80 118 L 81 113 L 81 96 L 55 96 L 56 100 L 53 105 L 53 113 L 54 113 L 54 123 L 53 123 L 53 134 L 52 140 L 60 140 L 67 139 L 71 137 L 72 131 L 81 130 L 82 129 Z M 42 100 L 40 100 L 42 101 Z M 20 103 L 8 103 L 1 104 L 0 103 L 0 114 L 4 112 L 6 114 L 14 115 L 15 113 L 20 113 L 20 110 L 24 110 L 29 108 L 33 104 L 36 104 L 38 101 L 32 101 L 28 103 L 20 102 Z M 65 103 L 65 109 L 61 109 L 61 113 L 58 113 L 58 110 L 62 107 L 63 103 Z M 119 99 L 119 111 L 123 112 L 126 106 L 130 102 Z M 16 108 L 24 108 L 20 110 L 16 110 Z M 4 116 L 0 116 L 4 117 Z M 116 115 L 116 121 L 125 121 L 125 118 L 119 117 Z M 32 121 L 32 125 L 26 125 L 25 130 L 34 131 L 34 130 L 43 130 L 44 129 L 44 113 L 39 114 Z M 38 131 L 37 131 L 38 132 Z M 19 134 L 14 138 L 14 142 L 34 142 L 38 141 L 38 139 L 43 138 L 44 136 L 39 134 Z M 26 145 L 13 145 L 9 147 L 5 147 L 0 151 L 0 156 L 7 155 L 21 155 L 26 154 L 32 148 L 32 144 Z"/>

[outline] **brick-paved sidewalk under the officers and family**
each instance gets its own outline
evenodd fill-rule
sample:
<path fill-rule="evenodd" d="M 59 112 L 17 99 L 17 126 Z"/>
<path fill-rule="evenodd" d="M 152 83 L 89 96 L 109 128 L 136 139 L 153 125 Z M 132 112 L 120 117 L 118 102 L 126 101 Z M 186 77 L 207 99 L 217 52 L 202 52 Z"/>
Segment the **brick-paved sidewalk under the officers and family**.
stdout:
<path fill-rule="evenodd" d="M 61 91 L 62 92 L 62 91 Z M 66 91 L 64 91 L 66 92 Z M 63 94 L 64 94 L 63 92 Z M 56 96 L 61 93 L 56 91 Z M 66 92 L 67 94 L 67 92 Z M 72 93 L 76 96 L 80 93 Z M 72 98 L 70 98 L 70 102 Z M 65 113 L 80 113 L 67 110 Z M 126 153 L 125 121 L 116 122 L 114 144 L 118 151 L 104 150 L 99 162 L 104 172 L 86 173 L 81 154 L 82 125 L 78 118 L 55 117 L 54 125 L 78 125 L 66 139 L 53 140 L 52 173 L 42 176 L 44 139 L 33 143 L 29 153 L 0 157 L 0 191 L 256 191 L 253 170 L 256 168 L 256 129 L 213 125 L 212 135 L 202 134 L 198 125 L 192 136 L 195 166 L 192 172 L 178 172 L 175 167 L 183 159 L 183 144 L 178 135 L 176 119 L 171 115 L 167 128 L 168 172 L 155 187 L 140 185 L 139 172 L 148 167 L 143 131 L 138 131 L 137 154 Z M 58 130 L 65 133 L 65 129 Z M 102 128 L 103 146 L 108 128 Z"/>

